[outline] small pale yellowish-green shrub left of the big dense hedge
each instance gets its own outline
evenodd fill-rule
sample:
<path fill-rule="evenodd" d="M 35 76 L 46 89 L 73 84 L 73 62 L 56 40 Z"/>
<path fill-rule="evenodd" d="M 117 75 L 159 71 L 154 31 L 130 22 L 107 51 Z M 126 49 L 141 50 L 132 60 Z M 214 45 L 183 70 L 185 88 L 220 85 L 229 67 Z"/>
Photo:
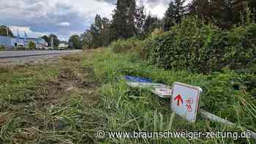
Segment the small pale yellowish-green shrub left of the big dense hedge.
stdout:
<path fill-rule="evenodd" d="M 112 42 L 110 48 L 113 50 L 114 53 L 125 53 L 128 51 L 138 51 L 140 50 L 142 42 L 140 39 L 137 38 L 130 38 L 130 39 L 118 39 L 115 42 Z"/>

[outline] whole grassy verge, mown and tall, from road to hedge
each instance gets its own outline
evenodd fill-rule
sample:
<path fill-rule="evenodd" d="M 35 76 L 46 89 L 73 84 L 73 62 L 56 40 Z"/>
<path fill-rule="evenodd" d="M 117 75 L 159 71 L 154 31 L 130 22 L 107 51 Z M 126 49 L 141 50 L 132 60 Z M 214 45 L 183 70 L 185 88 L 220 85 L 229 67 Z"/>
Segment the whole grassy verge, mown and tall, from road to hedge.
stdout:
<path fill-rule="evenodd" d="M 211 75 L 158 69 L 138 53 L 86 50 L 58 64 L 0 68 L 0 143 L 255 143 L 232 138 L 103 139 L 105 131 L 244 131 L 207 121 L 195 124 L 170 111 L 170 99 L 129 88 L 122 75 L 175 81 L 203 88 L 200 108 L 256 131 L 256 102 L 240 84 L 242 74 Z M 97 81 L 101 82 L 100 88 Z"/>

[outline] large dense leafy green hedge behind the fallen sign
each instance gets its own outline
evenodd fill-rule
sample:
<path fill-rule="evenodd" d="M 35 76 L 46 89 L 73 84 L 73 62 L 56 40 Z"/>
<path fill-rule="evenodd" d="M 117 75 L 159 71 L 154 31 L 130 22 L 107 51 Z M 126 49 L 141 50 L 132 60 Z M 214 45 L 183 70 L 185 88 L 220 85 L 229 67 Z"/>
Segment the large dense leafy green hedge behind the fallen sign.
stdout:
<path fill-rule="evenodd" d="M 147 39 L 144 50 L 149 61 L 165 69 L 213 72 L 253 64 L 255 37 L 255 23 L 223 31 L 198 18 L 185 18 L 165 34 Z"/>

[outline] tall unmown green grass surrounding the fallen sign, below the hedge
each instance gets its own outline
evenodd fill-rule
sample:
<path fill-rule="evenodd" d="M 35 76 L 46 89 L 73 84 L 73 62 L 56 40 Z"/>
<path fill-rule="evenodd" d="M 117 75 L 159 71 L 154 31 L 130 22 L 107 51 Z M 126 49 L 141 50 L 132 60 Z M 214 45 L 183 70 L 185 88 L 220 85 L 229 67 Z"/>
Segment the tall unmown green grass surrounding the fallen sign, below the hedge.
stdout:
<path fill-rule="evenodd" d="M 166 71 L 140 60 L 137 53 L 116 54 L 111 50 L 95 53 L 83 61 L 83 67 L 92 67 L 102 82 L 99 94 L 101 109 L 107 117 L 105 131 L 113 132 L 220 132 L 243 131 L 236 127 L 197 118 L 195 124 L 175 116 L 170 111 L 170 100 L 159 99 L 148 91 L 129 88 L 122 75 L 149 77 L 157 83 L 171 86 L 173 82 L 188 83 L 203 88 L 200 108 L 222 118 L 256 131 L 256 101 L 246 89 L 236 86 L 242 75 L 228 69 L 211 75 L 192 74 L 187 71 Z M 253 140 L 232 138 L 187 139 L 105 139 L 109 143 L 255 143 Z"/>

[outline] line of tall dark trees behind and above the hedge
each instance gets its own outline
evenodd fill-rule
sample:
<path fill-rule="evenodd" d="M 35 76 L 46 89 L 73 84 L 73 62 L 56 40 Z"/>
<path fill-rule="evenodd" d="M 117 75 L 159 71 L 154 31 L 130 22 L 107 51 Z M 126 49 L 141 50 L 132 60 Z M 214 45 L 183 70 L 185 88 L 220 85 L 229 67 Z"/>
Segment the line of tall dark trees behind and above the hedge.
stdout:
<path fill-rule="evenodd" d="M 164 18 L 157 18 L 149 12 L 145 4 L 135 0 L 118 0 L 113 18 L 96 15 L 90 29 L 83 34 L 73 35 L 69 39 L 75 48 L 98 48 L 107 46 L 117 39 L 129 37 L 145 38 L 154 29 L 169 31 L 175 23 L 188 15 L 196 15 L 205 23 L 214 23 L 221 29 L 255 20 L 255 0 L 173 0 L 168 4 Z"/>

